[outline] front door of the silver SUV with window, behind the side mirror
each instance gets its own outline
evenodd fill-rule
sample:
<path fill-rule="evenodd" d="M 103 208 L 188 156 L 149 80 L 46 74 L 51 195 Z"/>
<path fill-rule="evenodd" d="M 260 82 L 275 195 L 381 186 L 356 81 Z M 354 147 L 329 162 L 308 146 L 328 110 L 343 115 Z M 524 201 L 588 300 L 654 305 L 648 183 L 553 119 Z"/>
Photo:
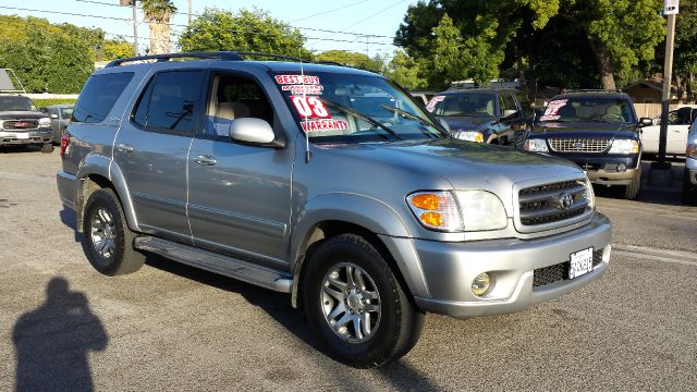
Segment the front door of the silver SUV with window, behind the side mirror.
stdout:
<path fill-rule="evenodd" d="M 258 118 L 283 130 L 259 81 L 212 72 L 205 127 L 188 161 L 188 217 L 196 246 L 272 268 L 288 267 L 293 151 L 235 143 L 230 124 Z M 283 105 L 280 102 L 280 105 Z"/>

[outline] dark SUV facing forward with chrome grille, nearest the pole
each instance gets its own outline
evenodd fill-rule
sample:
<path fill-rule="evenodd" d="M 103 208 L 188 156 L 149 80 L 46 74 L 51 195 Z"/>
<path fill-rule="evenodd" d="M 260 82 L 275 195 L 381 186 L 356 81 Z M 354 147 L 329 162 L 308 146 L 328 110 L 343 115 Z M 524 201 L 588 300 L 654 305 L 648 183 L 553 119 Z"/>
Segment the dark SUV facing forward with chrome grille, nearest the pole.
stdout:
<path fill-rule="evenodd" d="M 524 149 L 566 158 L 594 184 L 622 186 L 636 198 L 641 184 L 639 128 L 629 97 L 615 90 L 577 90 L 558 95 L 535 121 Z"/>

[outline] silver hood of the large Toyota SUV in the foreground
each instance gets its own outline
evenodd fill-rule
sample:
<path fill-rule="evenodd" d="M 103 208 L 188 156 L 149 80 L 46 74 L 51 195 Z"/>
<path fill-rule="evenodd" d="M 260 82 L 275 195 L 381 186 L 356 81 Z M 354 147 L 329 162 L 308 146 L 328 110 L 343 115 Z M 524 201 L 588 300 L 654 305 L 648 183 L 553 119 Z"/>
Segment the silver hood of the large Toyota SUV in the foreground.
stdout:
<path fill-rule="evenodd" d="M 321 148 L 340 155 L 341 158 L 334 161 L 342 168 L 351 168 L 353 175 L 360 172 L 364 176 L 375 176 L 379 183 L 372 187 L 381 192 L 386 188 L 400 194 L 408 191 L 399 189 L 404 181 L 393 179 L 408 179 L 412 192 L 442 188 L 442 184 L 449 184 L 454 189 L 485 189 L 497 194 L 510 213 L 513 211 L 516 183 L 537 185 L 585 179 L 575 163 L 564 159 L 456 139 Z M 365 187 L 362 193 L 364 191 Z M 383 198 L 383 195 L 371 196 Z"/>

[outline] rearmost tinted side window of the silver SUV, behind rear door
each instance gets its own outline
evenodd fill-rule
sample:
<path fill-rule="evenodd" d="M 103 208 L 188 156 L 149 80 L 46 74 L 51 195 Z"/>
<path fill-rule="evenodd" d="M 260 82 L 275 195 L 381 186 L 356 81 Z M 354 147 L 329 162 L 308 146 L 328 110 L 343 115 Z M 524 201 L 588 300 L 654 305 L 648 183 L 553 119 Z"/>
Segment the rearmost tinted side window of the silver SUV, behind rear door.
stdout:
<path fill-rule="evenodd" d="M 132 78 L 133 72 L 91 76 L 77 98 L 72 121 L 85 123 L 105 121 Z"/>

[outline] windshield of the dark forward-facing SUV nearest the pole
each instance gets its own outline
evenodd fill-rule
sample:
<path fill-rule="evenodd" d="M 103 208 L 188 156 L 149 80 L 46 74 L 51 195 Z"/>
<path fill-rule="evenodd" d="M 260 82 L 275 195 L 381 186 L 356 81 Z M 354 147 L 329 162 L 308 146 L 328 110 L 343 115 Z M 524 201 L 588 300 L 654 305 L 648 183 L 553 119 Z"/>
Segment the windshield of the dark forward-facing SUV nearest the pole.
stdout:
<path fill-rule="evenodd" d="M 550 101 L 539 121 L 634 123 L 636 118 L 627 99 L 572 97 Z"/>

